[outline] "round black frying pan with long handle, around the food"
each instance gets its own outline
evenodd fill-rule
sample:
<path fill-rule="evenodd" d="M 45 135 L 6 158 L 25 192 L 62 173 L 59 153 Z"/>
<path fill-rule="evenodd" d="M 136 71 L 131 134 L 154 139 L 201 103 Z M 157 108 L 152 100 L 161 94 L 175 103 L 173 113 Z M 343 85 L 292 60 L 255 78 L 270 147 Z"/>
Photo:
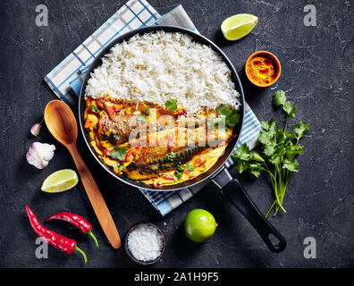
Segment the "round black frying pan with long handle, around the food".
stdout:
<path fill-rule="evenodd" d="M 200 174 L 198 177 L 194 178 L 190 181 L 183 181 L 179 184 L 170 185 L 170 186 L 162 186 L 159 188 L 152 188 L 152 186 L 147 186 L 137 181 L 132 181 L 131 179 L 125 177 L 124 175 L 118 175 L 113 170 L 110 169 L 107 165 L 102 163 L 99 158 L 97 157 L 93 147 L 89 144 L 89 133 L 83 128 L 84 125 L 84 112 L 85 112 L 85 90 L 86 85 L 89 80 L 90 73 L 94 71 L 99 65 L 102 64 L 102 58 L 108 54 L 109 50 L 116 44 L 122 43 L 123 40 L 127 41 L 129 38 L 136 34 L 144 34 L 146 32 L 156 31 L 163 29 L 166 32 L 181 32 L 184 34 L 190 35 L 196 42 L 204 44 L 206 46 L 210 46 L 212 49 L 215 50 L 219 55 L 223 57 L 223 62 L 228 65 L 230 70 L 232 71 L 232 81 L 235 84 L 236 89 L 240 93 L 240 123 L 233 128 L 233 133 L 235 135 L 235 139 L 228 144 L 223 152 L 223 156 L 220 156 L 218 161 L 210 168 L 207 172 Z M 240 78 L 235 71 L 231 61 L 228 59 L 226 55 L 223 54 L 223 51 L 217 47 L 212 41 L 209 39 L 190 31 L 189 29 L 182 29 L 180 27 L 174 26 L 152 26 L 142 29 L 134 29 L 130 32 L 122 35 L 121 37 L 115 39 L 109 46 L 106 46 L 102 52 L 97 55 L 95 61 L 91 64 L 89 71 L 87 72 L 85 79 L 83 80 L 83 84 L 80 90 L 80 100 L 79 100 L 79 120 L 80 120 L 80 130 L 82 131 L 83 137 L 86 141 L 89 150 L 91 151 L 92 155 L 97 159 L 98 164 L 113 175 L 118 180 L 127 183 L 131 186 L 143 188 L 143 189 L 150 189 L 150 190 L 177 190 L 183 189 L 186 187 L 191 187 L 196 185 L 202 181 L 211 180 L 215 183 L 215 185 L 221 189 L 223 195 L 228 198 L 228 200 L 235 206 L 241 214 L 243 214 L 246 219 L 253 225 L 256 231 L 259 233 L 261 238 L 265 241 L 267 247 L 274 251 L 274 252 L 281 252 L 286 247 L 286 240 L 282 237 L 282 234 L 277 231 L 274 226 L 269 223 L 263 214 L 259 212 L 257 206 L 252 202 L 251 198 L 247 194 L 246 190 L 242 187 L 237 179 L 232 178 L 230 172 L 228 172 L 227 168 L 224 166 L 226 160 L 232 156 L 232 150 L 236 146 L 236 143 L 239 139 L 240 130 L 243 125 L 243 118 L 244 118 L 244 106 L 245 106 L 245 98 L 243 94 L 242 85 L 240 83 Z M 273 237 L 273 238 L 272 238 Z"/>

